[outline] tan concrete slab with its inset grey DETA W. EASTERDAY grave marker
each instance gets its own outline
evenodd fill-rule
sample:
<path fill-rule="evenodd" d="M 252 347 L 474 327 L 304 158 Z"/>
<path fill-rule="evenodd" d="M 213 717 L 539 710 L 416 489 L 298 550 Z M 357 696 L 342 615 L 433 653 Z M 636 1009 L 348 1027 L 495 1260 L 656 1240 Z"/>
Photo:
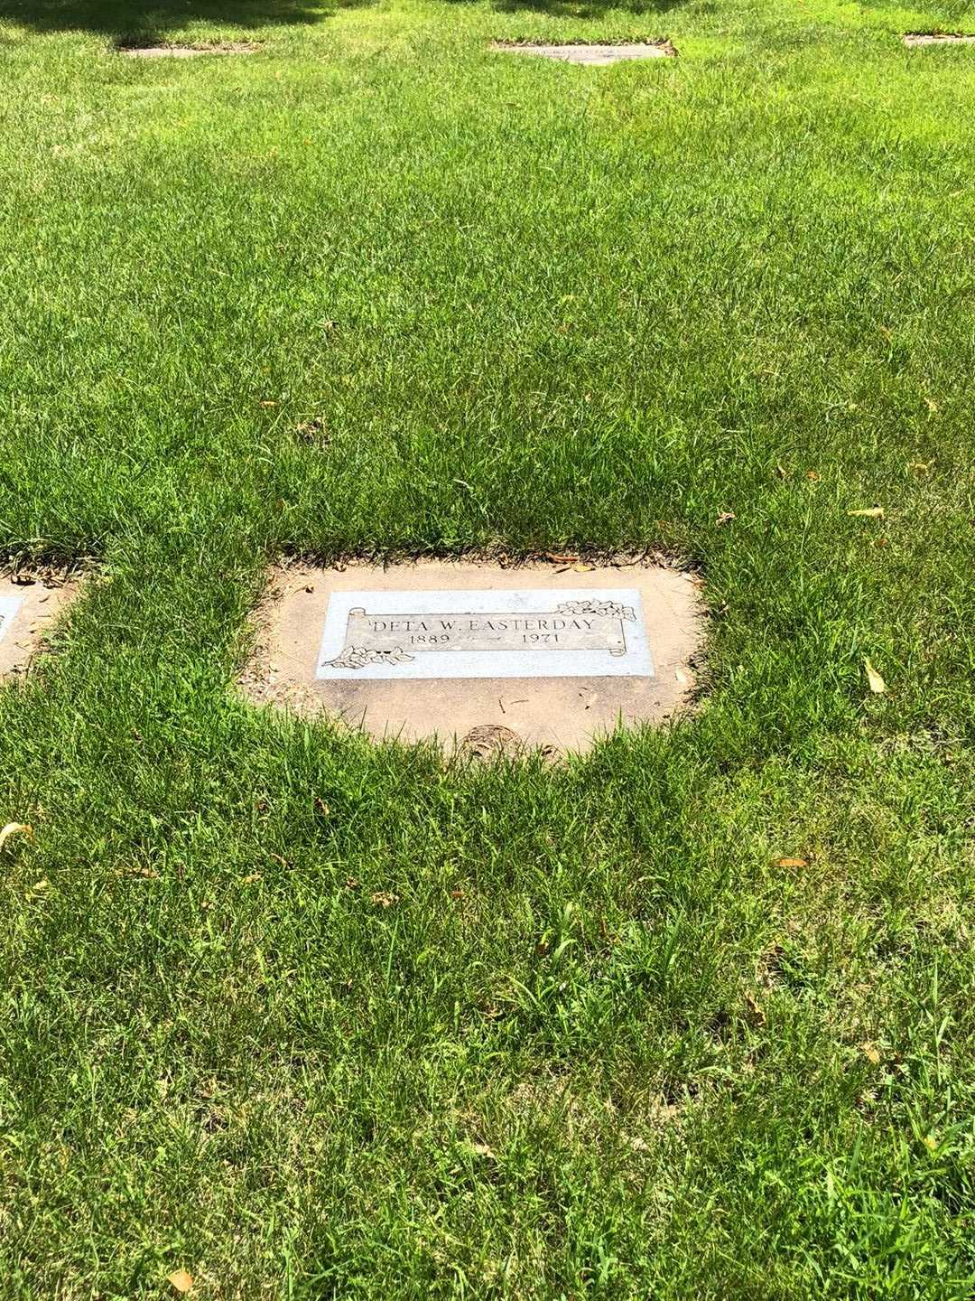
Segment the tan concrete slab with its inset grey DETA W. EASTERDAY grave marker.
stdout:
<path fill-rule="evenodd" d="M 685 700 L 701 615 L 692 575 L 644 563 L 296 563 L 270 575 L 240 684 L 378 739 L 581 751 Z"/>

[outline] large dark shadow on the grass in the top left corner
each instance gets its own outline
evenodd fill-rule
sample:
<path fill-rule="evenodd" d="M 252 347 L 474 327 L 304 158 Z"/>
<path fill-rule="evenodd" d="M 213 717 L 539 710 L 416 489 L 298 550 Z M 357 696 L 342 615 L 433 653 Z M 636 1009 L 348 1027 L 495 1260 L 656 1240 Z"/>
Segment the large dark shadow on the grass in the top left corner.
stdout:
<path fill-rule="evenodd" d="M 341 8 L 346 8 L 339 0 Z M 0 0 L 0 21 L 34 31 L 94 31 L 116 40 L 164 40 L 187 22 L 268 27 L 311 23 L 334 13 L 334 4 L 303 0 Z"/>

